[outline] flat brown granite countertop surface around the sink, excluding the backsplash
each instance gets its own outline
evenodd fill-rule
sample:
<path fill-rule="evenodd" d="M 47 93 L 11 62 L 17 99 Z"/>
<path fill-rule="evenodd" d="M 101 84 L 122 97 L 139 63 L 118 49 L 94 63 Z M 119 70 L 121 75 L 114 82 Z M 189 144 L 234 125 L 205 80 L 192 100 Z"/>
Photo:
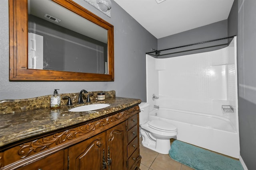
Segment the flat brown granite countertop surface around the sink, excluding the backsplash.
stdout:
<path fill-rule="evenodd" d="M 102 101 L 92 99 L 92 102 L 84 104 L 73 103 L 72 106 L 62 105 L 57 109 L 40 108 L 3 114 L 0 115 L 0 147 L 22 139 L 90 121 L 140 104 L 140 102 L 140 99 L 111 97 Z M 73 107 L 95 103 L 110 104 L 110 106 L 95 111 L 68 111 L 68 109 Z"/>

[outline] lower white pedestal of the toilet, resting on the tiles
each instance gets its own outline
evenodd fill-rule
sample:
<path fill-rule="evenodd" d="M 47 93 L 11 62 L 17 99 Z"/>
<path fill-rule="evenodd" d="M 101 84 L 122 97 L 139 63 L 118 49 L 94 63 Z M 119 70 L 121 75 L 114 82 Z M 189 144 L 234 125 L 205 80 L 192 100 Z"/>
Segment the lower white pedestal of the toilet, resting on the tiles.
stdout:
<path fill-rule="evenodd" d="M 142 146 L 161 154 L 168 154 L 171 149 L 170 139 L 156 139 L 156 142 L 146 143 L 142 140 Z"/>

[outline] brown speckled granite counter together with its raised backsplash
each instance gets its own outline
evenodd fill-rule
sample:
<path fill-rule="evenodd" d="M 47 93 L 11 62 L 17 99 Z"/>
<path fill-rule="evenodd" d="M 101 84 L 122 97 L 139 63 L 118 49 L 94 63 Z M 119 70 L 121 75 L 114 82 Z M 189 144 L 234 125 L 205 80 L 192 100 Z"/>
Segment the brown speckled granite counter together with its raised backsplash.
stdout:
<path fill-rule="evenodd" d="M 61 96 L 70 96 L 73 105 L 66 106 L 64 105 L 66 100 L 62 100 L 62 105 L 58 109 L 49 108 L 49 96 L 39 99 L 0 101 L 0 148 L 16 141 L 92 121 L 141 102 L 140 99 L 115 97 L 114 91 L 105 92 L 106 100 L 97 101 L 95 95 L 97 92 L 93 93 L 92 102 L 84 104 L 77 104 L 78 94 L 61 94 Z M 110 104 L 110 106 L 95 111 L 68 111 L 73 107 L 96 103 Z"/>

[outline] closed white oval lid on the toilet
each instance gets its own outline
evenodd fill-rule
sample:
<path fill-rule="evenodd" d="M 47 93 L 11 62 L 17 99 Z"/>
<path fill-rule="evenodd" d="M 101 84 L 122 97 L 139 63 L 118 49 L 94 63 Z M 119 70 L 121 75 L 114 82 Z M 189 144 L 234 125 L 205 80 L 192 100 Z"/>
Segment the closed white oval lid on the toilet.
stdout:
<path fill-rule="evenodd" d="M 159 131 L 164 131 L 164 132 L 175 132 L 177 131 L 177 127 L 174 125 L 167 123 L 165 121 L 160 121 L 160 120 L 152 120 L 150 123 L 148 123 L 148 126 L 159 130 Z"/>

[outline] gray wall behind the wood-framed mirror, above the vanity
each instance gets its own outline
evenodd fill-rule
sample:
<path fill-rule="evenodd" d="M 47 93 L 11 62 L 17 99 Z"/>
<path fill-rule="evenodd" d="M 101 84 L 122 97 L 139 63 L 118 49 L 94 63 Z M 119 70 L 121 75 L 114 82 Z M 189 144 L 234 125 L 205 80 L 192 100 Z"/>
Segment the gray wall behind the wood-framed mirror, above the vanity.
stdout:
<path fill-rule="evenodd" d="M 116 90 L 116 96 L 146 101 L 146 55 L 157 39 L 112 1 L 111 18 L 88 4 L 88 10 L 114 25 L 114 82 L 9 82 L 8 0 L 0 1 L 0 100 L 59 93 Z"/>

